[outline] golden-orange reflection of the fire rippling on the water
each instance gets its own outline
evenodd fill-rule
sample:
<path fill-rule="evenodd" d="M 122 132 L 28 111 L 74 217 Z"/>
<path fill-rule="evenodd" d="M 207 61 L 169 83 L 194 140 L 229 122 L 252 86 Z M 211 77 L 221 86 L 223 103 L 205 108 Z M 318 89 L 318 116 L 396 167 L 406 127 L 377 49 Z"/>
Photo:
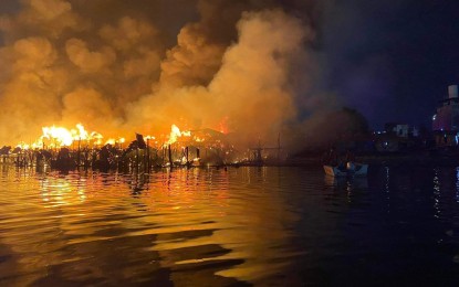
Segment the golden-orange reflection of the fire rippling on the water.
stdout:
<path fill-rule="evenodd" d="M 160 170 L 152 176 L 10 171 L 20 184 L 4 180 L 18 195 L 4 208 L 2 225 L 9 232 L 0 242 L 18 254 L 19 273 L 30 274 L 21 284 L 40 280 L 50 266 L 63 263 L 65 279 L 105 276 L 96 265 L 75 270 L 70 263 L 95 256 L 88 246 L 97 242 L 105 248 L 118 238 L 144 237 L 150 240 L 142 253 L 157 254 L 156 268 L 171 270 L 173 281 L 191 276 L 182 268 L 205 263 L 217 266 L 212 276 L 255 280 L 285 267 L 281 258 L 288 253 L 277 246 L 288 246 L 284 224 L 295 221 L 272 187 L 263 188 L 267 173 L 265 168 Z M 234 177 L 242 184 L 233 185 Z M 189 248 L 195 252 L 184 254 Z M 229 265 L 219 268 L 221 263 Z"/>

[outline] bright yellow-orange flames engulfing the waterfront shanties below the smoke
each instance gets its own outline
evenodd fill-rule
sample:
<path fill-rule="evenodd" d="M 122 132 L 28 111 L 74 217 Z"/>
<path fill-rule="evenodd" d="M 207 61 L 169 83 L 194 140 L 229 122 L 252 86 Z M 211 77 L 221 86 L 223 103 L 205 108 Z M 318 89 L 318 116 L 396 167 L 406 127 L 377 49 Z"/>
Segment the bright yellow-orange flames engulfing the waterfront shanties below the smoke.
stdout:
<path fill-rule="evenodd" d="M 46 155 L 49 157 L 46 160 L 50 164 L 54 164 L 60 160 L 65 162 L 65 159 L 70 159 L 71 164 L 95 168 L 102 164 L 131 168 L 133 167 L 133 160 L 139 159 L 138 155 L 140 155 L 140 159 L 145 156 L 148 164 L 144 160 L 142 160 L 143 163 L 134 163 L 147 164 L 148 167 L 150 167 L 150 161 L 155 166 L 165 167 L 168 164 L 201 166 L 202 162 L 225 164 L 225 162 L 234 162 L 239 157 L 234 146 L 227 141 L 226 136 L 210 128 L 180 130 L 177 125 L 171 125 L 169 135 L 160 134 L 159 137 L 156 137 L 156 135 L 143 136 L 136 134 L 135 140 L 126 145 L 126 147 L 123 147 L 125 138 L 113 137 L 104 139 L 100 132 L 90 132 L 81 124 L 71 129 L 53 125 L 43 127 L 42 131 L 42 136 L 35 142 L 27 144 L 21 141 L 17 149 L 12 151 L 21 158 L 21 162 L 17 161 L 17 164 L 25 167 L 34 164 L 35 160 L 36 164 L 39 164 L 39 161 L 41 164 L 43 157 Z M 112 147 L 105 147 L 106 145 Z M 59 150 L 60 147 L 65 148 Z M 8 152 L 10 152 L 11 147 L 8 148 Z M 134 149 L 137 152 L 133 157 L 131 151 Z M 32 150 L 32 152 L 28 150 Z M 48 152 L 35 153 L 39 150 Z M 144 150 L 144 153 L 139 153 L 139 150 Z M 201 157 L 201 155 L 205 156 Z"/>

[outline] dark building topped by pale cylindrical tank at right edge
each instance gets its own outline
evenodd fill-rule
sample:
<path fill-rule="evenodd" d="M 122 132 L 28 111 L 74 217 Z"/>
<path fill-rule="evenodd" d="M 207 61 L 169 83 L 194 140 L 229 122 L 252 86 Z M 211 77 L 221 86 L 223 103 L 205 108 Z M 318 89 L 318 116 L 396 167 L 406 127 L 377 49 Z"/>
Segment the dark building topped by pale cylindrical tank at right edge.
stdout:
<path fill-rule="evenodd" d="M 458 146 L 459 98 L 458 86 L 448 86 L 448 98 L 439 102 L 432 117 L 432 131 L 437 147 Z"/>

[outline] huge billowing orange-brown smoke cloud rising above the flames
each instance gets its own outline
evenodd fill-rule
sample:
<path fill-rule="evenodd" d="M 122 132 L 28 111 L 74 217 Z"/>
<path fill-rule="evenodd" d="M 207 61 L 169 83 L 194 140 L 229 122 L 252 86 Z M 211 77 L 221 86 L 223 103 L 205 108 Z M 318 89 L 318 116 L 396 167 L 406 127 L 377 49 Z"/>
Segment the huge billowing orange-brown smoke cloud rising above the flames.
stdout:
<path fill-rule="evenodd" d="M 247 144 L 301 129 L 336 100 L 319 92 L 320 4 L 299 3 L 22 0 L 0 18 L 0 144 L 54 124 L 127 138 L 176 124 Z"/>

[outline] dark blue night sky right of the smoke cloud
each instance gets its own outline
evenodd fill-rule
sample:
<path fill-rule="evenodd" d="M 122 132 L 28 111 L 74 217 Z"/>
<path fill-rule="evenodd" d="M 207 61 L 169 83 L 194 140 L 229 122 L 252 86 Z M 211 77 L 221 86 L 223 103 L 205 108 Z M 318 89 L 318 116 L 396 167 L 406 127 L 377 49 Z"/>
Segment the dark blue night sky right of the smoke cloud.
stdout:
<path fill-rule="evenodd" d="M 363 113 L 375 129 L 388 121 L 429 127 L 447 86 L 459 84 L 457 1 L 336 0 L 323 1 L 319 11 L 304 4 L 314 1 L 271 2 L 302 19 L 312 15 L 321 88 Z M 15 0 L 0 2 L 0 14 L 19 9 Z"/>

